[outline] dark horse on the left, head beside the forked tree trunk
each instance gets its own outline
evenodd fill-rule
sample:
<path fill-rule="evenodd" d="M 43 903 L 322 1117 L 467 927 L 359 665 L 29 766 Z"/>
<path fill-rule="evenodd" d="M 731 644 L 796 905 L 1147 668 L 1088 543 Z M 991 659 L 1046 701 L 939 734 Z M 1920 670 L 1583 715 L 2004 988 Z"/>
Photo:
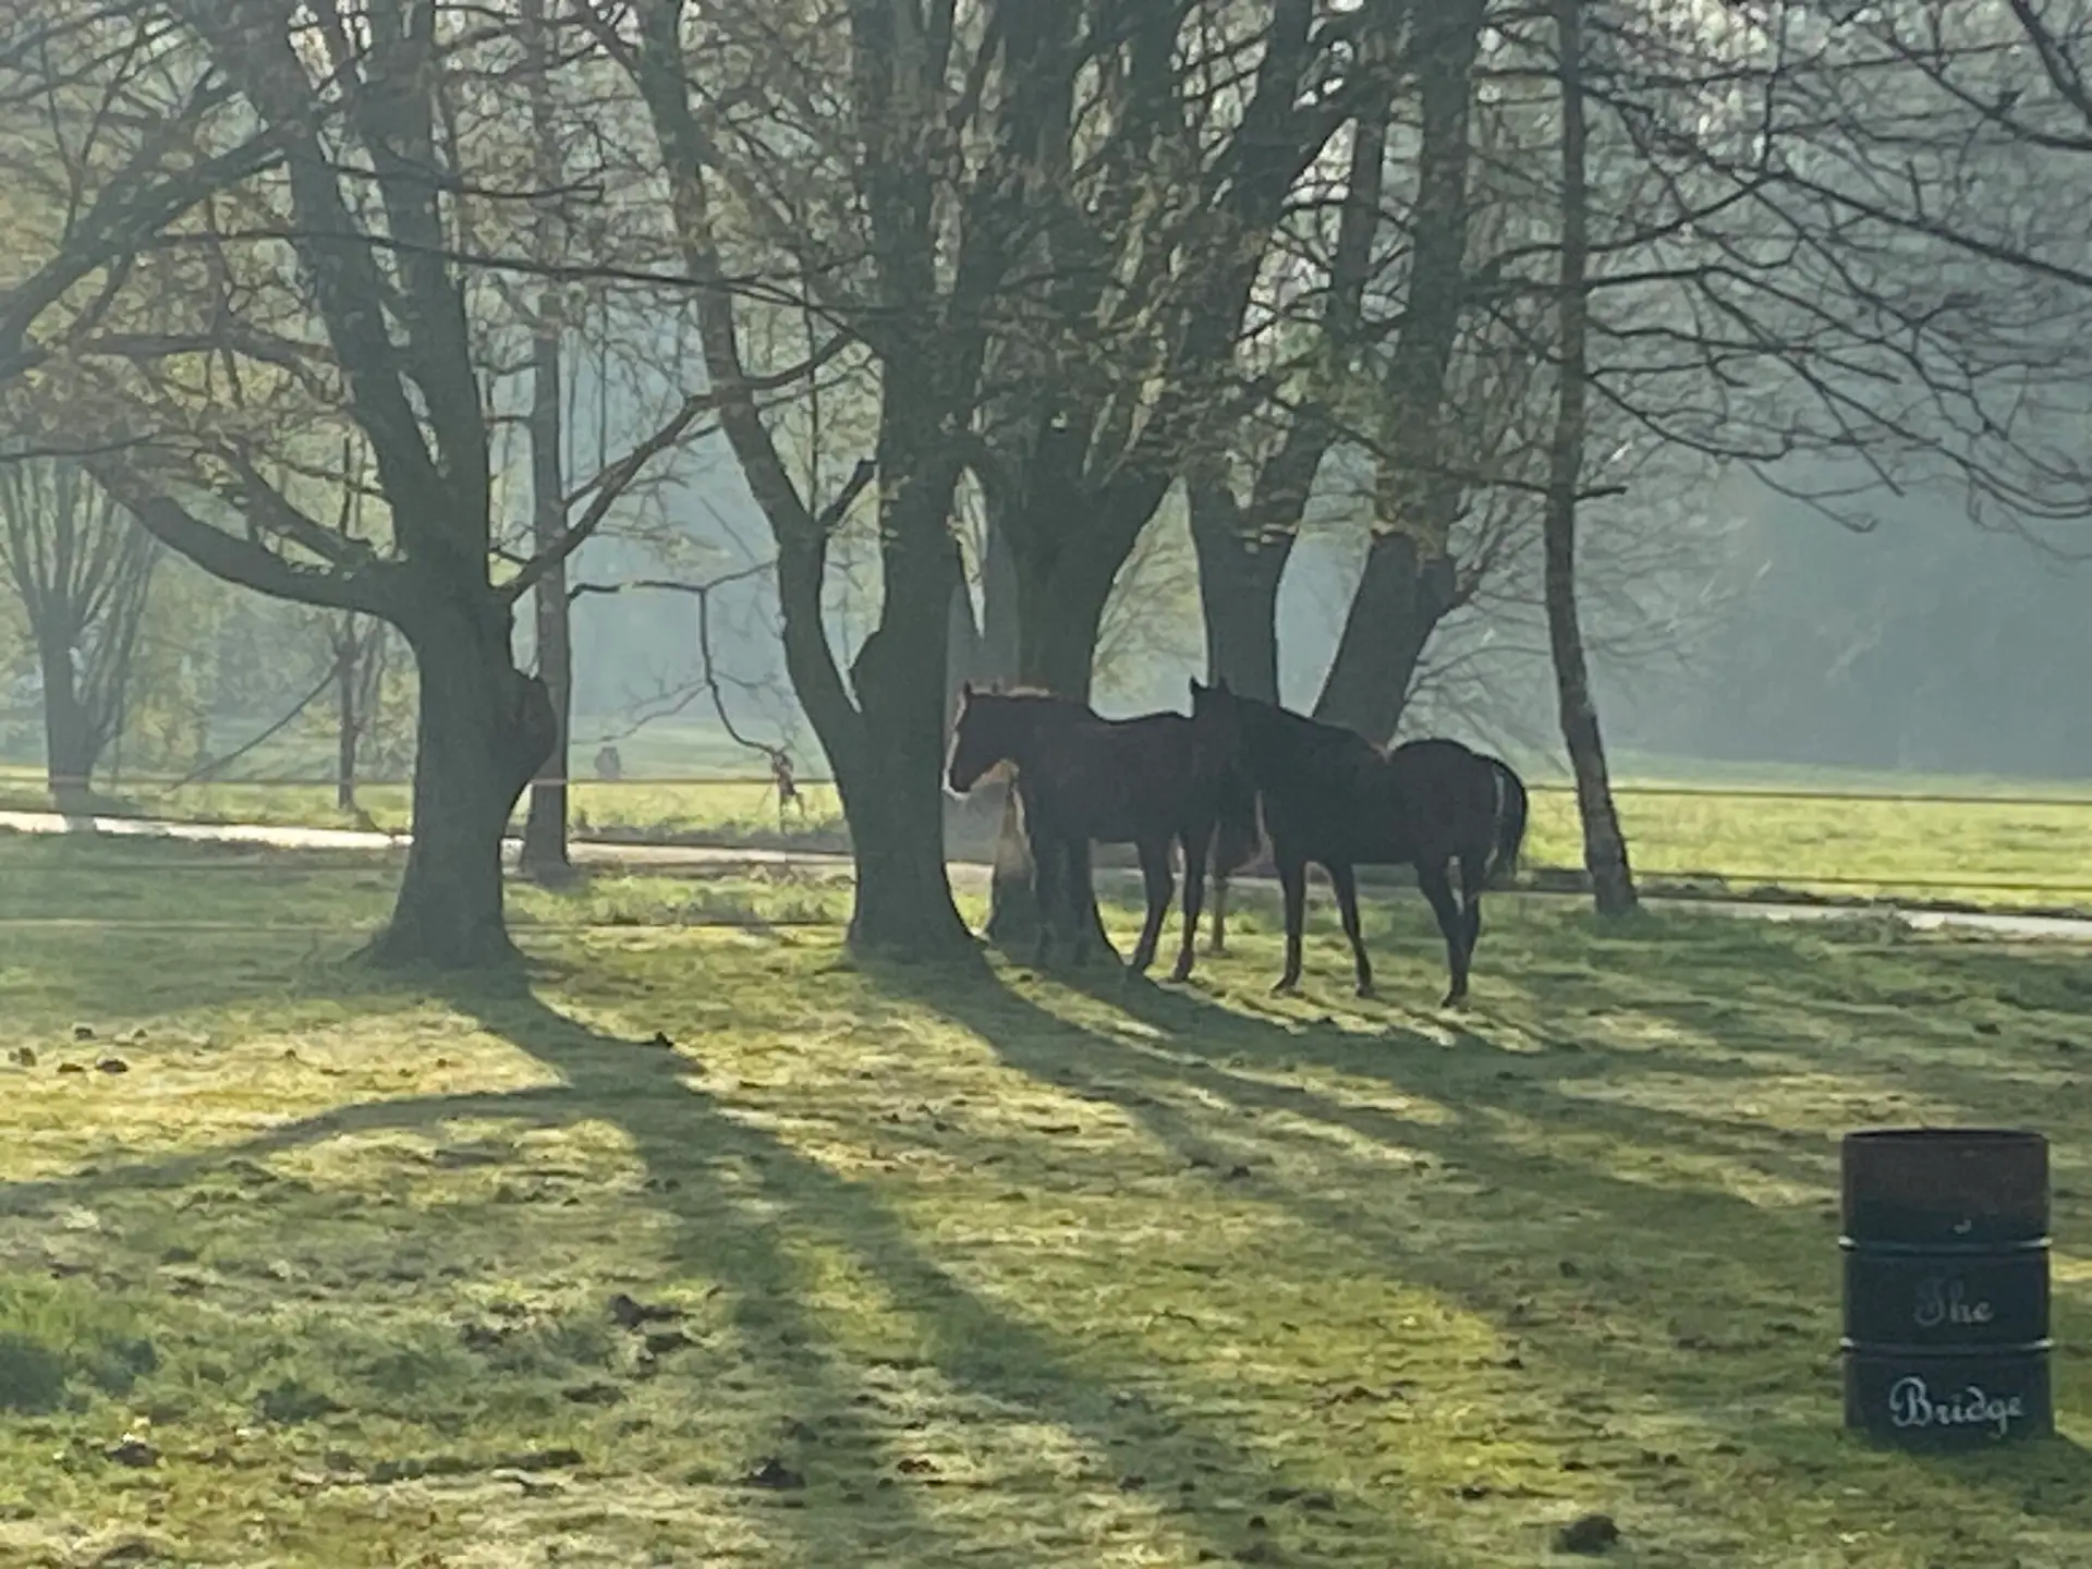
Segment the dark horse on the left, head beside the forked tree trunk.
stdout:
<path fill-rule="evenodd" d="M 1017 799 L 1031 841 L 1040 904 L 1038 962 L 1046 962 L 1056 914 L 1073 918 L 1069 946 L 1084 958 L 1090 933 L 1090 843 L 1134 845 L 1146 883 L 1149 918 L 1130 962 L 1155 962 L 1169 912 L 1169 845 L 1184 847 L 1184 948 L 1172 979 L 1190 975 L 1205 858 L 1224 818 L 1255 810 L 1255 797 L 1228 776 L 1234 736 L 1226 715 L 1195 726 L 1182 713 L 1107 720 L 1086 703 L 1052 692 L 977 692 L 969 684 L 952 736 L 946 782 L 964 795 L 998 764 L 1017 764 Z M 1234 839 L 1255 828 L 1234 826 Z"/>

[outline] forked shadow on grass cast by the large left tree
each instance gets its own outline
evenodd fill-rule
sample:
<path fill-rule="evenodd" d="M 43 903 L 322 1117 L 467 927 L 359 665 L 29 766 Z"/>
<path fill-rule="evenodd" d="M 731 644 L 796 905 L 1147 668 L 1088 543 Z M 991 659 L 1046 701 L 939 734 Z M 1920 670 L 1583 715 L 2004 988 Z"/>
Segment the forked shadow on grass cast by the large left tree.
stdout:
<path fill-rule="evenodd" d="M 722 1287 L 741 1360 L 726 1389 L 743 1408 L 768 1406 L 768 1433 L 749 1433 L 745 1473 L 684 1477 L 686 1490 L 718 1498 L 718 1508 L 692 1521 L 720 1513 L 761 1521 L 759 1529 L 797 1542 L 814 1563 L 964 1559 L 1019 1569 L 1098 1561 L 1125 1540 L 1125 1510 L 1159 1517 L 1146 1531 L 1155 1542 L 1174 1538 L 1201 1559 L 1243 1561 L 1287 1561 L 1295 1538 L 1328 1542 L 1326 1531 L 1383 1515 L 1320 1475 L 1314 1454 L 1259 1452 L 1151 1368 L 996 1305 L 939 1261 L 879 1190 L 707 1094 L 680 1052 L 600 1033 L 548 1006 L 527 981 L 437 996 L 561 1084 L 335 1107 L 207 1153 L 6 1184 L 0 1213 L 52 1215 L 119 1192 L 182 1190 L 241 1163 L 360 1134 L 458 1119 L 546 1130 L 602 1121 L 630 1138 L 644 1165 L 644 1203 L 674 1222 L 674 1266 Z M 402 1006 L 420 1000 L 397 998 Z M 891 1356 L 843 1345 L 810 1305 L 808 1249 L 843 1257 L 893 1303 Z M 960 1443 L 967 1423 L 987 1425 L 975 1429 L 983 1433 L 1044 1423 L 1082 1458 L 1033 1456 L 1002 1475 L 975 1475 L 967 1454 L 920 1456 L 910 1446 L 920 1441 L 925 1404 L 956 1412 Z M 703 1420 L 722 1418 L 711 1410 Z M 772 1483 L 797 1473 L 805 1485 L 766 1487 L 751 1475 L 766 1466 Z M 981 1490 L 996 1490 L 994 1502 Z M 1328 1498 L 1328 1513 L 1284 1508 L 1284 1500 L 1316 1496 Z M 1395 1550 L 1420 1569 L 1464 1563 L 1400 1523 L 1374 1519 L 1372 1527 L 1377 1561 Z M 1347 1556 L 1339 1536 L 1316 1561 Z"/>

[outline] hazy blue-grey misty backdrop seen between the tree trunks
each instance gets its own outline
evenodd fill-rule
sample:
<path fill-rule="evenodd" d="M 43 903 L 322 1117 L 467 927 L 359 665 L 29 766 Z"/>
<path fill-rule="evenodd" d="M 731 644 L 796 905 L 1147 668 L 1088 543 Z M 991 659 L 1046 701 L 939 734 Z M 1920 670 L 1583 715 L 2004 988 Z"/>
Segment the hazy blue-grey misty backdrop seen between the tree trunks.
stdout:
<path fill-rule="evenodd" d="M 628 423 L 619 414 L 634 400 L 613 391 L 602 408 L 586 377 L 575 383 L 569 429 L 584 450 L 573 467 L 588 471 L 586 448 L 615 452 Z M 527 490 L 521 460 L 513 452 L 502 464 L 513 496 Z M 1280 592 L 1280 686 L 1295 707 L 1312 705 L 1335 651 L 1360 571 L 1362 515 L 1333 462 Z M 2088 584 L 2069 540 L 2044 548 L 1977 529 L 1946 494 L 1881 496 L 1874 515 L 1870 531 L 1856 531 L 1741 471 L 1692 475 L 1686 494 L 1678 483 L 1630 485 L 1588 508 L 1592 665 L 1625 778 L 1753 768 L 2042 780 L 2092 772 L 2092 713 L 2056 701 L 2059 684 L 2092 659 Z M 1483 743 L 1538 778 L 1561 778 L 1538 582 L 1519 565 L 1538 527 L 1513 533 L 1510 563 L 1433 636 L 1402 734 Z M 715 437 L 667 464 L 617 527 L 582 548 L 575 584 L 720 586 L 709 590 L 709 665 L 690 594 L 575 598 L 573 776 L 594 776 L 605 743 L 619 747 L 628 774 L 766 772 L 759 753 L 726 734 L 715 701 L 743 736 L 784 745 L 803 778 L 826 774 L 784 680 L 766 565 L 768 531 Z M 845 533 L 833 579 L 828 628 L 847 657 L 877 588 L 868 538 Z M 525 659 L 529 640 L 521 615 Z M 322 613 L 230 590 L 165 554 L 123 734 L 107 759 L 111 782 L 199 768 L 218 778 L 324 778 L 333 720 L 320 688 L 333 659 Z M 15 605 L 0 607 L 0 755 L 42 764 L 36 649 Z M 400 678 L 410 669 L 397 646 L 389 663 Z M 1096 705 L 1115 715 L 1182 709 L 1186 678 L 1203 674 L 1197 563 L 1178 490 L 1119 575 Z M 305 711 L 287 722 L 301 701 Z M 366 778 L 404 778 L 412 766 L 404 690 L 389 715 L 366 745 Z M 262 745 L 211 766 L 272 726 Z"/>

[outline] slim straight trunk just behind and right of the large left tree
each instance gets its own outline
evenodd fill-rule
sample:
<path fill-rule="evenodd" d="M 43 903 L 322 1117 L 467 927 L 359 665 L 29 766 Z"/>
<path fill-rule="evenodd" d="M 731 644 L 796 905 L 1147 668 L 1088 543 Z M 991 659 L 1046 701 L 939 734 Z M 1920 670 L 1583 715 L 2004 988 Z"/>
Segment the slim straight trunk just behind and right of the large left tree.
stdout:
<path fill-rule="evenodd" d="M 540 554 L 556 550 L 567 533 L 567 485 L 561 464 L 559 328 L 542 326 L 531 339 L 529 473 L 531 533 Z M 529 787 L 523 820 L 523 874 L 538 883 L 573 877 L 567 854 L 569 728 L 573 724 L 573 617 L 567 600 L 567 563 L 561 561 L 531 590 L 538 623 L 538 678 L 552 703 L 552 753 Z"/>

